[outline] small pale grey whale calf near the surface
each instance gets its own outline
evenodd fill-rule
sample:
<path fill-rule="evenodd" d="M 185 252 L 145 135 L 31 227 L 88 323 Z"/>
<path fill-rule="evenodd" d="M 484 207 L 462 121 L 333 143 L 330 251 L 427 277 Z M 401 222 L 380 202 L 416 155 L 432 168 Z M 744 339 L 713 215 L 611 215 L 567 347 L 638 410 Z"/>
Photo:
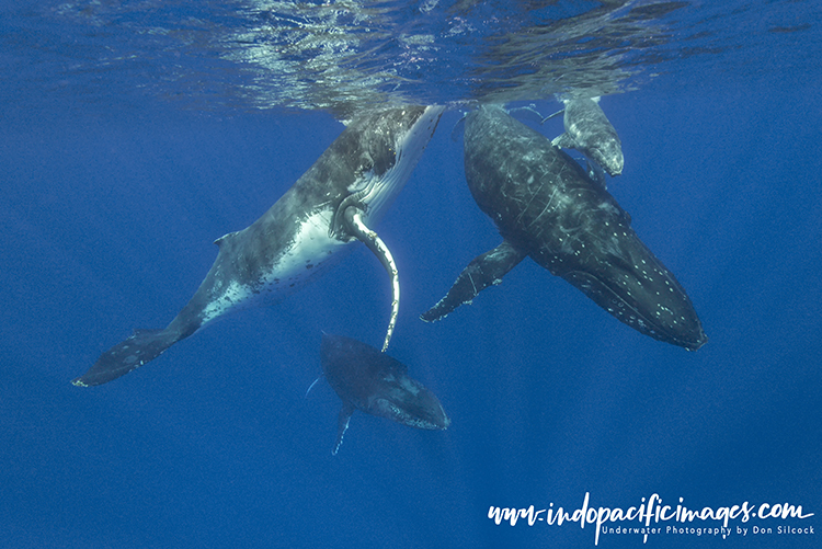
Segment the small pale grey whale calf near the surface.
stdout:
<path fill-rule="evenodd" d="M 563 103 L 566 133 L 553 139 L 553 145 L 579 150 L 601 165 L 608 175 L 623 173 L 623 142 L 600 107 L 600 98 L 567 99 Z"/>

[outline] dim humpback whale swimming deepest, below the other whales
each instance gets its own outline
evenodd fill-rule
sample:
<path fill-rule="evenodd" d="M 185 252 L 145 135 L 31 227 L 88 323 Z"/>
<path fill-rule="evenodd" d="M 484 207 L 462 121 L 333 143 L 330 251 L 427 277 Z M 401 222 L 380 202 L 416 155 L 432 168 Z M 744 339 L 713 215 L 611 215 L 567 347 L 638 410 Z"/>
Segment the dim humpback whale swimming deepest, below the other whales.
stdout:
<path fill-rule="evenodd" d="M 323 334 L 320 356 L 322 373 L 343 403 L 332 455 L 339 451 L 355 410 L 416 428 L 450 425 L 434 393 L 387 354 L 350 338 Z"/>

